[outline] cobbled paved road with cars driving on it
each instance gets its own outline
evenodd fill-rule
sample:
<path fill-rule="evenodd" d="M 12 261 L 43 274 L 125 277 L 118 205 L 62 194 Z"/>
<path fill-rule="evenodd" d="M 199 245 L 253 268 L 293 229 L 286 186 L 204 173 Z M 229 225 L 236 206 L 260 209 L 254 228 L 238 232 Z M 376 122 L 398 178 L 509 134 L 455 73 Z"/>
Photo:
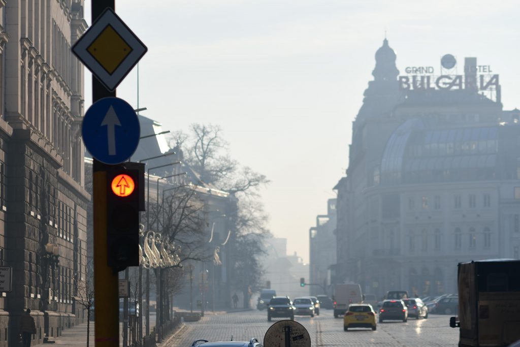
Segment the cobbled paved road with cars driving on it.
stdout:
<path fill-rule="evenodd" d="M 343 319 L 334 319 L 332 311 L 322 310 L 320 316 L 298 317 L 309 331 L 312 346 L 385 346 L 431 347 L 458 344 L 458 329 L 448 326 L 449 316 L 430 315 L 428 319 L 408 319 L 407 323 L 378 324 L 378 330 L 352 329 L 343 331 Z M 252 337 L 263 341 L 269 326 L 265 311 L 229 313 L 203 317 L 200 322 L 186 323 L 168 347 L 187 347 L 194 340 L 249 341 Z M 266 346 L 268 347 L 268 346 Z"/>

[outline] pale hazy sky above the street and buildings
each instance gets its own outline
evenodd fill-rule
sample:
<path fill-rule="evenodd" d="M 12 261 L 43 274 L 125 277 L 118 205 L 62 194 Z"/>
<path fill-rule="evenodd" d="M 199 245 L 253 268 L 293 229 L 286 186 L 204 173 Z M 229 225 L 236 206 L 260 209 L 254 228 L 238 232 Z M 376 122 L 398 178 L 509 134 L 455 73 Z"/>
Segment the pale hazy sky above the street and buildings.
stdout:
<path fill-rule="evenodd" d="M 85 1 L 90 23 L 90 1 Z M 348 165 L 352 121 L 383 41 L 407 66 L 451 53 L 500 74 L 505 109 L 520 107 L 518 1 L 119 0 L 148 46 L 142 114 L 165 130 L 219 124 L 231 155 L 271 180 L 271 232 L 308 261 L 308 230 Z M 118 97 L 137 105 L 134 69 Z M 92 104 L 86 73 L 86 107 Z M 331 245 L 331 249 L 335 249 Z"/>

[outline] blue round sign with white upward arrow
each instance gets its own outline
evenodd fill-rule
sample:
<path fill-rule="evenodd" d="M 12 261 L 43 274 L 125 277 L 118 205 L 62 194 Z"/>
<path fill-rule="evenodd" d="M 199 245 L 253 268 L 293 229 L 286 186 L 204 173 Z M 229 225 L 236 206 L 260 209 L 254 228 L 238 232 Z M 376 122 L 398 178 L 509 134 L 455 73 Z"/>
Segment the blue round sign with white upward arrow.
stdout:
<path fill-rule="evenodd" d="M 134 108 L 120 98 L 103 98 L 90 106 L 81 126 L 83 143 L 92 156 L 105 164 L 130 158 L 141 133 Z"/>

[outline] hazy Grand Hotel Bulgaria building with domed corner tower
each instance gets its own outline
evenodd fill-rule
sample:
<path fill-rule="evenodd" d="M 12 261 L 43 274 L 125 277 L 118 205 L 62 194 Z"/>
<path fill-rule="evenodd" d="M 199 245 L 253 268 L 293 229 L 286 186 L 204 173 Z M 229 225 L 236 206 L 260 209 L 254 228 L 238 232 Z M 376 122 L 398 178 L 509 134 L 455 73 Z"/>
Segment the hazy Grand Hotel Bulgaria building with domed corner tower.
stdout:
<path fill-rule="evenodd" d="M 338 281 L 380 297 L 457 292 L 457 263 L 516 258 L 520 124 L 471 84 L 399 90 L 385 40 L 335 187 Z M 464 61 L 464 81 L 475 69 Z"/>

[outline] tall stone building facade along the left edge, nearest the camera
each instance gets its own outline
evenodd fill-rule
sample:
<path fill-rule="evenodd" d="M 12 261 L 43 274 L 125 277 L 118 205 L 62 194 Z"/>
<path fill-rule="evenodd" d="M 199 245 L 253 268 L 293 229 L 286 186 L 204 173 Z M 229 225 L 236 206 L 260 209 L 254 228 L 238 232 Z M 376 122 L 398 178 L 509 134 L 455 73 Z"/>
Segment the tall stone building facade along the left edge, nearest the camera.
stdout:
<path fill-rule="evenodd" d="M 86 278 L 83 67 L 70 47 L 86 30 L 83 1 L 0 2 L 0 346 L 17 340 L 31 309 L 33 343 L 86 315 L 75 298 Z"/>

